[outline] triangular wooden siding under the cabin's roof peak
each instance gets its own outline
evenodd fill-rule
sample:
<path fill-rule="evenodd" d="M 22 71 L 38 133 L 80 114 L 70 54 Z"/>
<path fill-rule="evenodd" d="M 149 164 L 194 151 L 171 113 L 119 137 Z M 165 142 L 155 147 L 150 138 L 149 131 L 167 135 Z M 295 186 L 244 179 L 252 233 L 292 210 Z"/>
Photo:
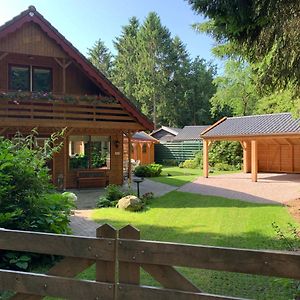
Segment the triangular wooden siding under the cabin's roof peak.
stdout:
<path fill-rule="evenodd" d="M 1 39 L 0 51 L 49 57 L 67 56 L 60 46 L 32 22 Z"/>

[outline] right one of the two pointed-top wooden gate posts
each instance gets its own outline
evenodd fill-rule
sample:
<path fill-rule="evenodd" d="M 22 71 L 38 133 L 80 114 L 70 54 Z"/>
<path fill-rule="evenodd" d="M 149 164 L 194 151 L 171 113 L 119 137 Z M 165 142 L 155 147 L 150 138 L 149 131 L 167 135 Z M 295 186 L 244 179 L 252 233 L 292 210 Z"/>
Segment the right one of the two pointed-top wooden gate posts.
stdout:
<path fill-rule="evenodd" d="M 131 225 L 119 230 L 120 239 L 139 240 L 140 231 Z M 121 241 L 119 241 L 121 243 Z M 136 257 L 132 257 L 132 263 L 119 262 L 119 282 L 128 284 L 140 284 L 140 265 L 135 263 Z"/>

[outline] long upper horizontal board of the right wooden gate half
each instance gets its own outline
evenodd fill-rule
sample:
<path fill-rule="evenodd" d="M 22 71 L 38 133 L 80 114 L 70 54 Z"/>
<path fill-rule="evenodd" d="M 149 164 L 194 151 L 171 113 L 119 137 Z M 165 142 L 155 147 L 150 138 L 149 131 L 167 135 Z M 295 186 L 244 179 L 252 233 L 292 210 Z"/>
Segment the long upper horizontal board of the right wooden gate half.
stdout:
<path fill-rule="evenodd" d="M 300 254 L 121 240 L 119 261 L 300 279 Z"/>

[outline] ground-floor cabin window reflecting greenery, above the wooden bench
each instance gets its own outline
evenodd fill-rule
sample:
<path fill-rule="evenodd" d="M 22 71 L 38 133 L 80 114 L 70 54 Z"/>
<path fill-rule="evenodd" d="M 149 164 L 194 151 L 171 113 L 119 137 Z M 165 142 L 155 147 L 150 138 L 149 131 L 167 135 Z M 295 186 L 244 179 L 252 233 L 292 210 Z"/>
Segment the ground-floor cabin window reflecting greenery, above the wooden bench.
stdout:
<path fill-rule="evenodd" d="M 71 169 L 110 168 L 110 137 L 70 136 Z"/>

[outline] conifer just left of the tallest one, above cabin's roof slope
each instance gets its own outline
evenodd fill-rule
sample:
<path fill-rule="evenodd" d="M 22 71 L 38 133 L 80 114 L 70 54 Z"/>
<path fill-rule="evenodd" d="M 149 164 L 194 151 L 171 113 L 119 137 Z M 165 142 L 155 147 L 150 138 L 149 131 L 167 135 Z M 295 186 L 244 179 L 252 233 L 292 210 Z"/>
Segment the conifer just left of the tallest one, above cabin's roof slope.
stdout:
<path fill-rule="evenodd" d="M 112 80 L 130 99 L 138 104 L 136 95 L 138 44 L 137 34 L 139 20 L 136 17 L 129 19 L 129 24 L 123 26 L 122 33 L 114 41 L 117 50 L 113 62 Z"/>

